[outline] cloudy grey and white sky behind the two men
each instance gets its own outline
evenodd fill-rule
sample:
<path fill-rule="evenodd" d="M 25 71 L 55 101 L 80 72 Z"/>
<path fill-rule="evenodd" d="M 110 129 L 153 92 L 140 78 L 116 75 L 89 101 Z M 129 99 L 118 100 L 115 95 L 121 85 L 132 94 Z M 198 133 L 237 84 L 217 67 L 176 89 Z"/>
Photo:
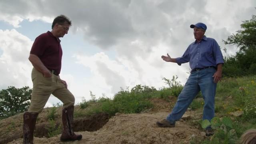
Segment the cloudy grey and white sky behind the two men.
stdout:
<path fill-rule="evenodd" d="M 0 0 L 0 90 L 32 88 L 31 46 L 60 14 L 72 20 L 61 38 L 60 77 L 78 103 L 89 100 L 90 91 L 112 98 L 120 87 L 161 88 L 162 78 L 173 75 L 184 84 L 188 63 L 178 66 L 161 56 L 182 56 L 194 41 L 190 24 L 204 22 L 206 36 L 234 54 L 236 47 L 222 40 L 256 14 L 255 7 L 255 0 Z M 51 96 L 47 106 L 56 102 Z"/>

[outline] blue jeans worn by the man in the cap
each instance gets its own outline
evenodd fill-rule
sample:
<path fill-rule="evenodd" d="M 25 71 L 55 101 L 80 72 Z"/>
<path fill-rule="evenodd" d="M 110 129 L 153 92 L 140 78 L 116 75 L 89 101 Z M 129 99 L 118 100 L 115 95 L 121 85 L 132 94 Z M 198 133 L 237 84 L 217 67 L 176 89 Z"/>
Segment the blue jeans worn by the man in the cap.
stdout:
<path fill-rule="evenodd" d="M 191 104 L 194 97 L 201 90 L 204 98 L 203 120 L 211 120 L 214 117 L 214 97 L 217 84 L 214 83 L 215 68 L 205 68 L 191 72 L 188 80 L 178 96 L 178 100 L 172 109 L 172 113 L 166 118 L 170 123 L 180 120 Z"/>

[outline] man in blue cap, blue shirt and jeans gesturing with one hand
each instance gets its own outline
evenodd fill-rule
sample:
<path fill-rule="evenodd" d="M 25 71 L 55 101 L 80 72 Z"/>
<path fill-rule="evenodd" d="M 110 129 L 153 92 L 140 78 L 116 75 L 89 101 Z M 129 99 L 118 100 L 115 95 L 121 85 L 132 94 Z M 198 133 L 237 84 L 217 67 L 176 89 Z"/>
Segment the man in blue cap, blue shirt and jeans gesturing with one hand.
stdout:
<path fill-rule="evenodd" d="M 188 46 L 183 56 L 179 58 L 171 58 L 169 54 L 162 56 L 164 61 L 175 62 L 178 65 L 189 62 L 191 73 L 171 114 L 166 119 L 156 122 L 160 127 L 174 127 L 175 121 L 182 118 L 199 91 L 204 98 L 203 120 L 210 121 L 214 117 L 214 97 L 217 83 L 222 77 L 223 56 L 216 40 L 204 36 L 207 29 L 204 23 L 191 24 L 190 28 L 194 29 L 196 40 Z M 213 134 L 210 126 L 206 128 L 206 136 Z"/>

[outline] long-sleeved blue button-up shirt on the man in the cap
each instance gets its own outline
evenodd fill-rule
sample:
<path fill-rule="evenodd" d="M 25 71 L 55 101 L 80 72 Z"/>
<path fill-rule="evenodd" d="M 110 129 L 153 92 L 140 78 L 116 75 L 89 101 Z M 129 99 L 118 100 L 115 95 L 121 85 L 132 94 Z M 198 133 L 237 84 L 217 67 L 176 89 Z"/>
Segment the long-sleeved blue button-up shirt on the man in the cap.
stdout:
<path fill-rule="evenodd" d="M 217 66 L 224 64 L 223 56 L 220 51 L 220 46 L 213 38 L 204 36 L 202 41 L 196 41 L 190 44 L 183 56 L 176 58 L 178 65 L 189 62 L 190 68 L 205 68 L 208 66 Z"/>

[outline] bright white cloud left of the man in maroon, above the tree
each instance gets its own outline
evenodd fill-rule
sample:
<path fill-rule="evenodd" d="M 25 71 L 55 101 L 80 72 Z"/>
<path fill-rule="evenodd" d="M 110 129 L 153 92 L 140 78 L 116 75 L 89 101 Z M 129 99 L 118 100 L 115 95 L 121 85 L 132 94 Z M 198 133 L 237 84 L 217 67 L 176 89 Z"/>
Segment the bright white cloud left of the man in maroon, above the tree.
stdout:
<path fill-rule="evenodd" d="M 16 30 L 0 30 L 0 88 L 32 86 L 28 61 L 32 41 Z"/>

